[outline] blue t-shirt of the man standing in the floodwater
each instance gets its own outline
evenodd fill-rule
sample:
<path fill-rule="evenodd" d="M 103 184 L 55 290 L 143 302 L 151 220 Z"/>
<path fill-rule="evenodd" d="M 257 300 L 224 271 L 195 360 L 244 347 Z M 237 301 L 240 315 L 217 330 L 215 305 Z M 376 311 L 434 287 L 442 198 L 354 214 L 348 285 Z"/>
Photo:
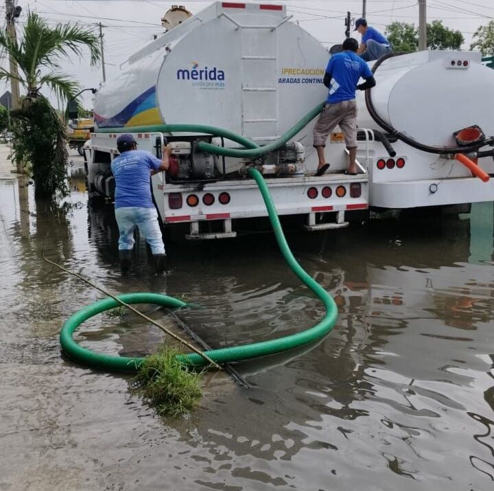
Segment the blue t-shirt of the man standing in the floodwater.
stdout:
<path fill-rule="evenodd" d="M 129 150 L 113 159 L 115 176 L 115 208 L 138 206 L 154 208 L 151 198 L 150 175 L 161 160 L 145 150 Z"/>

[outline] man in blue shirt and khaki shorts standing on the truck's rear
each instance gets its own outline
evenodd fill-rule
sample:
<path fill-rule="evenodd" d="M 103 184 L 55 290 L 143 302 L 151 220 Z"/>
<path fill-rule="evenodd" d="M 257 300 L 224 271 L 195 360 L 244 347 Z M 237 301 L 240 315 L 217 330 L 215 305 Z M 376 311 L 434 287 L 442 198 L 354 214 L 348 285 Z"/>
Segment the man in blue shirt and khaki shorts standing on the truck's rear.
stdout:
<path fill-rule="evenodd" d="M 343 132 L 346 148 L 349 150 L 350 163 L 345 174 L 357 174 L 357 102 L 355 91 L 363 91 L 375 86 L 375 80 L 367 63 L 357 56 L 358 41 L 346 38 L 343 51 L 329 58 L 323 83 L 329 89 L 326 105 L 314 125 L 314 147 L 317 150 L 319 164 L 316 176 L 322 176 L 328 169 L 325 161 L 326 140 L 336 125 Z M 366 81 L 358 84 L 360 78 Z"/>

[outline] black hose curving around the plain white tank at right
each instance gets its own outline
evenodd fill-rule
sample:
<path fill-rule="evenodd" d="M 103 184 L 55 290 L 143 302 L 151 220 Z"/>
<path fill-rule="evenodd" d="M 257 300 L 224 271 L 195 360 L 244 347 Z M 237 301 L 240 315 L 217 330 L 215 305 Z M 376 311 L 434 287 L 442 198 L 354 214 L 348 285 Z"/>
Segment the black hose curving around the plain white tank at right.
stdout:
<path fill-rule="evenodd" d="M 398 56 L 404 53 L 401 52 L 389 52 L 381 56 L 373 65 L 372 71 L 375 73 L 375 71 L 379 68 L 379 66 L 386 61 L 388 58 L 392 58 L 393 56 Z M 429 152 L 429 153 L 468 153 L 468 152 L 476 152 L 480 147 L 484 145 L 492 145 L 494 144 L 494 137 L 490 137 L 488 139 L 484 139 L 482 141 L 478 141 L 475 144 L 467 145 L 467 146 L 454 146 L 454 147 L 437 147 L 437 146 L 430 146 L 430 145 L 425 145 L 421 144 L 419 141 L 416 141 L 415 139 L 409 137 L 408 135 L 405 135 L 404 133 L 401 133 L 397 129 L 393 128 L 390 124 L 388 124 L 384 119 L 382 119 L 378 114 L 377 111 L 374 108 L 373 101 L 372 101 L 372 90 L 367 89 L 365 91 L 365 99 L 366 99 L 366 106 L 367 106 L 367 111 L 371 115 L 371 117 L 374 119 L 374 121 L 381 126 L 387 133 L 390 133 L 393 137 L 397 137 L 401 141 L 404 141 L 405 144 L 408 144 L 412 146 L 413 148 L 416 148 L 417 150 L 422 150 L 423 152 Z M 383 145 L 384 142 L 381 141 Z M 385 145 L 386 146 L 386 145 Z M 386 150 L 388 150 L 386 148 Z"/>

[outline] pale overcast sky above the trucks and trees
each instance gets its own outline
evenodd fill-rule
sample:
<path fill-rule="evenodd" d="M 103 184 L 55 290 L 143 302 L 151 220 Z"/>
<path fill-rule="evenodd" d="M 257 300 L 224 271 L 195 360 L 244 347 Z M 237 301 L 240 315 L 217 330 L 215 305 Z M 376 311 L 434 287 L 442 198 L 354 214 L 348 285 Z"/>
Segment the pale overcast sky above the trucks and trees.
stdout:
<path fill-rule="evenodd" d="M 450 29 L 460 30 L 469 49 L 472 35 L 480 25 L 494 19 L 493 0 L 426 0 L 427 22 L 442 20 Z M 163 32 L 161 17 L 171 5 L 184 5 L 195 14 L 209 5 L 210 0 L 17 0 L 23 12 L 17 19 L 17 33 L 22 36 L 27 10 L 38 12 L 50 24 L 78 22 L 99 33 L 101 22 L 104 32 L 104 55 L 107 80 L 118 76 L 119 65 L 137 49 L 150 43 L 153 34 Z M 256 3 L 284 3 L 293 21 L 320 40 L 327 47 L 341 43 L 344 38 L 344 17 L 350 10 L 353 19 L 362 16 L 362 0 L 266 0 Z M 0 7 L 5 26 L 5 5 Z M 392 21 L 418 25 L 419 5 L 415 0 L 367 0 L 367 20 L 384 32 Z M 353 33 L 355 35 L 355 33 Z M 357 36 L 355 36 L 357 37 Z M 360 38 L 358 36 L 357 38 Z M 8 60 L 1 56 L 2 66 L 8 67 Z M 74 76 L 81 87 L 98 87 L 102 81 L 101 67 L 91 69 L 86 60 L 64 63 L 63 69 Z M 8 88 L 8 87 L 7 87 Z M 89 92 L 86 94 L 90 94 Z M 52 102 L 54 99 L 51 98 Z M 56 100 L 55 100 L 56 101 Z M 54 102 L 56 105 L 56 102 Z M 91 96 L 84 97 L 84 106 L 91 108 Z"/>

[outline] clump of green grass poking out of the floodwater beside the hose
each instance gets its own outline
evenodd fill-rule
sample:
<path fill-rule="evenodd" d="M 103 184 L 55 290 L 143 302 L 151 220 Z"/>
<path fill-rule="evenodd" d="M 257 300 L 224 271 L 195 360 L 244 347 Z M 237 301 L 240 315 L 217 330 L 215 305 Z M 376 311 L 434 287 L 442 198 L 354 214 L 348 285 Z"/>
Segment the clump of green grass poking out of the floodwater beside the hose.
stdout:
<path fill-rule="evenodd" d="M 202 375 L 177 359 L 175 347 L 162 345 L 156 354 L 144 358 L 132 390 L 149 402 L 158 415 L 180 416 L 198 404 Z"/>

